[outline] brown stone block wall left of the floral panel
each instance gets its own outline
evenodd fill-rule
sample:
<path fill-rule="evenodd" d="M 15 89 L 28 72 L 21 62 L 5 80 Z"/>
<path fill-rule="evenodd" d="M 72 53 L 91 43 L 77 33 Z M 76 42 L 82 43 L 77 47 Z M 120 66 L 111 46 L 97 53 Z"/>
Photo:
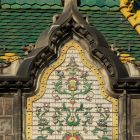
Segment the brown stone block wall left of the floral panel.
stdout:
<path fill-rule="evenodd" d="M 0 97 L 0 140 L 21 140 L 21 103 L 19 94 Z"/>

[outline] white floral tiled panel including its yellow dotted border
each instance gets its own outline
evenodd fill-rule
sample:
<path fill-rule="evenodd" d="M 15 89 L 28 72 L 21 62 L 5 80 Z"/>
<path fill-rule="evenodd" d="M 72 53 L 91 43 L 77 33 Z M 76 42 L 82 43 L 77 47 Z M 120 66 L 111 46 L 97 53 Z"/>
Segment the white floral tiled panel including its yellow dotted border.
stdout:
<path fill-rule="evenodd" d="M 118 100 L 75 41 L 40 77 L 27 99 L 26 140 L 117 140 Z"/>

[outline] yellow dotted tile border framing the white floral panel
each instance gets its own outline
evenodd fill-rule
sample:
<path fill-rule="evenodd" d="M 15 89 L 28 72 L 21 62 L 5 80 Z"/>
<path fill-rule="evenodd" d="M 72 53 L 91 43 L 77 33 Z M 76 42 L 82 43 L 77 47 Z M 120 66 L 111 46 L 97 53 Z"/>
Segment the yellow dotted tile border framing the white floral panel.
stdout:
<path fill-rule="evenodd" d="M 92 73 L 97 77 L 97 80 L 99 82 L 99 87 L 101 90 L 101 95 L 104 97 L 104 99 L 108 100 L 112 103 L 112 139 L 118 140 L 118 100 L 115 98 L 112 98 L 106 93 L 104 81 L 102 79 L 102 76 L 99 72 L 99 70 L 91 63 L 89 60 L 87 60 L 84 51 L 80 47 L 80 45 L 75 42 L 74 40 L 69 41 L 65 44 L 64 48 L 61 50 L 60 58 L 52 64 L 49 68 L 47 68 L 43 73 L 41 74 L 41 78 L 39 80 L 39 89 L 37 89 L 37 94 L 35 94 L 32 97 L 27 98 L 27 110 L 26 110 L 26 140 L 32 140 L 32 123 L 33 123 L 33 102 L 40 99 L 46 90 L 46 81 L 48 80 L 48 77 L 50 74 L 58 67 L 60 66 L 66 57 L 66 53 L 69 48 L 74 47 L 76 50 L 78 50 L 78 53 L 80 55 L 80 58 L 83 62 L 83 64 L 89 68 Z"/>

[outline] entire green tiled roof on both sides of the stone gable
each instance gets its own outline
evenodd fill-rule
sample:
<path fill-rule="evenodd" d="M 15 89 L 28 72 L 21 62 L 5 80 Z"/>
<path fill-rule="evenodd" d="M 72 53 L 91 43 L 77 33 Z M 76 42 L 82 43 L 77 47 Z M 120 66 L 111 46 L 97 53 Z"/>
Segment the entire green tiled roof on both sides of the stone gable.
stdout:
<path fill-rule="evenodd" d="M 0 56 L 5 52 L 24 56 L 22 47 L 35 43 L 50 27 L 52 16 L 62 11 L 61 0 L 1 0 L 1 4 Z M 109 44 L 140 60 L 140 36 L 118 9 L 119 0 L 82 0 L 80 12 Z"/>

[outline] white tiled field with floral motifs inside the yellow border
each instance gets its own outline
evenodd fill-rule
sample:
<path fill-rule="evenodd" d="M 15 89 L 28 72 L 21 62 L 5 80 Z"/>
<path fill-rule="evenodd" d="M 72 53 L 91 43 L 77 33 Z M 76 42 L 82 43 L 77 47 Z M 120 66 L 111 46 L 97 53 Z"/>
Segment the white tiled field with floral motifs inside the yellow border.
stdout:
<path fill-rule="evenodd" d="M 38 104 L 37 127 L 33 128 L 38 135 L 34 139 L 111 140 L 112 105 L 100 95 L 97 79 L 77 60 L 75 56 L 67 58 L 63 68 L 52 73 L 52 79 L 50 75 L 47 84 L 51 88 L 43 99 L 34 103 Z"/>

